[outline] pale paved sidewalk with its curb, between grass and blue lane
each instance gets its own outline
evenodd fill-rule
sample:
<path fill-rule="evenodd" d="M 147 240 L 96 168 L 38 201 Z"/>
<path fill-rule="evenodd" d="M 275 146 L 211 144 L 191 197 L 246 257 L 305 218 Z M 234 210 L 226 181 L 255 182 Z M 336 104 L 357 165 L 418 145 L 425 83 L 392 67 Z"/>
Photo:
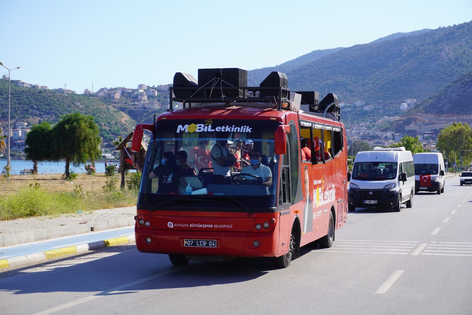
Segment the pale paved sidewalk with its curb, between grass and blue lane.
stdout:
<path fill-rule="evenodd" d="M 135 225 L 136 207 L 0 221 L 0 247 Z"/>

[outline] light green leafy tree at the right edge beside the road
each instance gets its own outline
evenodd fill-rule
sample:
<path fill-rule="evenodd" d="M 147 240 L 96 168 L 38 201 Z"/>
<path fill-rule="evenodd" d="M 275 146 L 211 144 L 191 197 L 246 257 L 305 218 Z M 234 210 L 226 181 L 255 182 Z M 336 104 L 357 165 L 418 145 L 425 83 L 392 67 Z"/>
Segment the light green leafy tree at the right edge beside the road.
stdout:
<path fill-rule="evenodd" d="M 462 152 L 472 148 L 472 129 L 468 124 L 453 122 L 438 134 L 436 147 L 444 154 L 447 160 L 456 162 L 462 156 L 463 164 L 470 163 L 471 152 Z"/>

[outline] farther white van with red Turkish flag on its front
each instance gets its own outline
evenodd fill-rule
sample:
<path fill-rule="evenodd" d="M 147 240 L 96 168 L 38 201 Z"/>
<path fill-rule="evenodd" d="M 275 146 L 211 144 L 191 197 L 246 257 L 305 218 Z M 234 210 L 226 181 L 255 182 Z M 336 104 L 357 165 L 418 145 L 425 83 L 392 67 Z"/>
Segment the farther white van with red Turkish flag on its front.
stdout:
<path fill-rule="evenodd" d="M 428 152 L 413 154 L 414 192 L 444 193 L 444 159 L 441 153 Z"/>

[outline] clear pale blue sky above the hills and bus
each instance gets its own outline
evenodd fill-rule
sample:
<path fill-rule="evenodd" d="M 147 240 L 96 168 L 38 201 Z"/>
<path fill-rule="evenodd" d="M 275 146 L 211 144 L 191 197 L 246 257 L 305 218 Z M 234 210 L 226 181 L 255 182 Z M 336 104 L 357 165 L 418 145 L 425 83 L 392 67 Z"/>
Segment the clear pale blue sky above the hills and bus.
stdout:
<path fill-rule="evenodd" d="M 472 20 L 471 0 L 0 0 L 0 61 L 49 88 L 136 88 Z M 8 70 L 0 67 L 0 75 Z"/>

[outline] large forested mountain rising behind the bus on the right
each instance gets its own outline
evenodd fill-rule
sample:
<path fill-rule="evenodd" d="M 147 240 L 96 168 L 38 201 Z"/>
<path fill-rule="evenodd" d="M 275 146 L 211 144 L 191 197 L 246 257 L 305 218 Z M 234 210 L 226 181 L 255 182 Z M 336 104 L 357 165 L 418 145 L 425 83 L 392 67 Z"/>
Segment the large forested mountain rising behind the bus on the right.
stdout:
<path fill-rule="evenodd" d="M 287 72 L 294 90 L 347 103 L 424 100 L 472 70 L 472 22 L 354 45 Z"/>

